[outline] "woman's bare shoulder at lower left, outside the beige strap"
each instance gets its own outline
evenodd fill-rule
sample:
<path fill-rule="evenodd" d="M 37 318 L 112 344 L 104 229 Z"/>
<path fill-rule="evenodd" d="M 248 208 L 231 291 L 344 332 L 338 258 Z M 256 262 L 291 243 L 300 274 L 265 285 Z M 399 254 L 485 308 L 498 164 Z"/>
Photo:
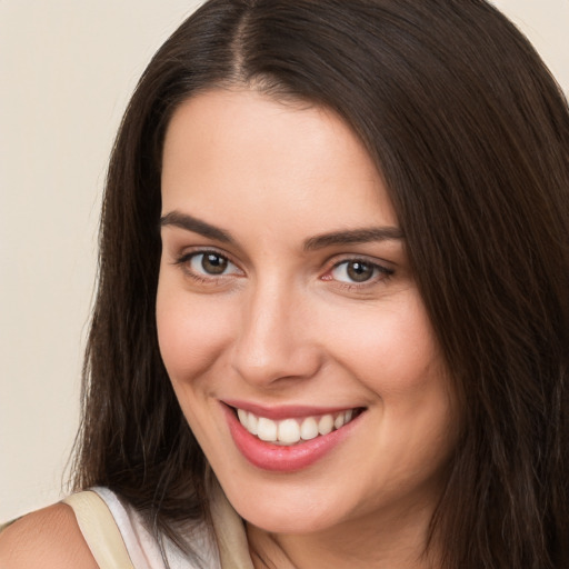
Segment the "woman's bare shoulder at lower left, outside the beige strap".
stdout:
<path fill-rule="evenodd" d="M 2 569 L 98 569 L 73 510 L 57 503 L 24 516 L 0 533 Z"/>

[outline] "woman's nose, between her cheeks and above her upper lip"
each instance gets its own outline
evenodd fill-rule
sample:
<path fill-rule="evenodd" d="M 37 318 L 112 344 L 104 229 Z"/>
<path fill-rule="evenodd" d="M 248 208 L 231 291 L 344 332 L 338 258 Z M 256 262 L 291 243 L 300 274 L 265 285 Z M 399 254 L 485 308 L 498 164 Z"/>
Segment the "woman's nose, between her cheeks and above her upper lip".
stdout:
<path fill-rule="evenodd" d="M 322 363 L 310 306 L 301 291 L 259 283 L 241 306 L 232 365 L 249 383 L 281 386 L 308 379 Z"/>

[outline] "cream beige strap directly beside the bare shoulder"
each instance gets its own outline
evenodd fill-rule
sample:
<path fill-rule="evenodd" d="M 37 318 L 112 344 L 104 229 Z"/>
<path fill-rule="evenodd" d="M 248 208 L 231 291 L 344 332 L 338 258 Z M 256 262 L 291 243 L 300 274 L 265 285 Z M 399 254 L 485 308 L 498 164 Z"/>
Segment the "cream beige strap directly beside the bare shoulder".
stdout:
<path fill-rule="evenodd" d="M 100 569 L 134 569 L 114 518 L 97 492 L 88 490 L 73 493 L 63 502 L 73 509 Z"/>

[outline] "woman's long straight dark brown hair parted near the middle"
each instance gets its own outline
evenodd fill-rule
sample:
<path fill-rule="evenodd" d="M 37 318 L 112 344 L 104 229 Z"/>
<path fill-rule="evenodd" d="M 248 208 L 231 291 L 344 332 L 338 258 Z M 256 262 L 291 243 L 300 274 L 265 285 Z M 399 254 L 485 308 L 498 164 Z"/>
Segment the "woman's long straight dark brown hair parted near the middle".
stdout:
<path fill-rule="evenodd" d="M 333 109 L 385 177 L 462 403 L 443 567 L 569 567 L 569 112 L 483 0 L 210 0 L 158 51 L 108 173 L 76 487 L 181 546 L 207 516 L 157 342 L 160 168 L 180 102 L 231 84 Z"/>

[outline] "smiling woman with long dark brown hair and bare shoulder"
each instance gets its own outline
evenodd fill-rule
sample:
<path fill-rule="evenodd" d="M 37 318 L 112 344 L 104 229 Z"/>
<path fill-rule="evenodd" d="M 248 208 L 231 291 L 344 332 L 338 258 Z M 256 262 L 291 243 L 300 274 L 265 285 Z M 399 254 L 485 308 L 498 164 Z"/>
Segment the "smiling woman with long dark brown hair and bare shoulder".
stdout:
<path fill-rule="evenodd" d="M 568 149 L 483 1 L 207 2 L 110 164 L 97 493 L 7 567 L 102 563 L 100 497 L 134 567 L 567 567 Z"/>

